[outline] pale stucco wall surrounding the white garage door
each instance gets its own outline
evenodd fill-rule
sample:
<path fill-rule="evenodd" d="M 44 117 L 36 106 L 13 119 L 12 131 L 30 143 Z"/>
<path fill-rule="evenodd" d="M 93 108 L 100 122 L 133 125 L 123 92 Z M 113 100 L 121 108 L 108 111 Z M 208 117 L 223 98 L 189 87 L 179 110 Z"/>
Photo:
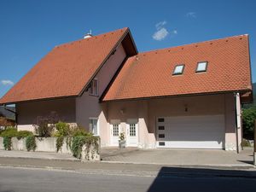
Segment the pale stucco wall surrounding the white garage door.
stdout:
<path fill-rule="evenodd" d="M 188 108 L 188 111 L 185 111 L 185 108 Z M 138 142 L 139 147 L 142 148 L 155 147 L 155 119 L 157 117 L 224 114 L 225 148 L 236 150 L 236 116 L 233 94 L 108 102 L 107 109 L 108 130 L 111 119 L 119 119 L 123 130 L 125 130 L 127 119 L 138 119 Z M 108 137 L 109 135 L 108 133 Z"/>

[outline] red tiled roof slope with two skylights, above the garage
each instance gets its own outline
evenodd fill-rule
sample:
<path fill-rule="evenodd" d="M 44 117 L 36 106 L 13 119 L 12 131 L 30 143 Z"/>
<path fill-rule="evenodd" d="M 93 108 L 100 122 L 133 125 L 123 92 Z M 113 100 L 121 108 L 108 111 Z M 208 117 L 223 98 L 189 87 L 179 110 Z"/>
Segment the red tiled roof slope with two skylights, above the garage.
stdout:
<path fill-rule="evenodd" d="M 206 73 L 195 73 L 208 61 Z M 184 64 L 182 75 L 172 76 Z M 251 90 L 248 36 L 159 49 L 130 57 L 102 101 Z"/>

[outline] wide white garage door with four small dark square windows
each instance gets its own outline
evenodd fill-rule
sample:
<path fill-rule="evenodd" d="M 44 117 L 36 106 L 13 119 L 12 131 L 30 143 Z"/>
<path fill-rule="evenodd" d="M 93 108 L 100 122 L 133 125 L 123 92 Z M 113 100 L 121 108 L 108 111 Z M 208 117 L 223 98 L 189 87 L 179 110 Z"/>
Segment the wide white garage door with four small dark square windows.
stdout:
<path fill-rule="evenodd" d="M 159 117 L 158 148 L 224 148 L 224 115 Z"/>

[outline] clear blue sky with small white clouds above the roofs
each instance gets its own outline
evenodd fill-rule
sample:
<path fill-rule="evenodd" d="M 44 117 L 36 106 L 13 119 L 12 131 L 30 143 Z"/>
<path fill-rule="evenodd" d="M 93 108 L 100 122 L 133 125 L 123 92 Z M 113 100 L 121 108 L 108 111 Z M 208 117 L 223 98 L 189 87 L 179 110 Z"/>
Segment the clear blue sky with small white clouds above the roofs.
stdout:
<path fill-rule="evenodd" d="M 256 1 L 0 1 L 0 96 L 55 45 L 129 26 L 146 51 L 250 35 L 256 81 Z"/>

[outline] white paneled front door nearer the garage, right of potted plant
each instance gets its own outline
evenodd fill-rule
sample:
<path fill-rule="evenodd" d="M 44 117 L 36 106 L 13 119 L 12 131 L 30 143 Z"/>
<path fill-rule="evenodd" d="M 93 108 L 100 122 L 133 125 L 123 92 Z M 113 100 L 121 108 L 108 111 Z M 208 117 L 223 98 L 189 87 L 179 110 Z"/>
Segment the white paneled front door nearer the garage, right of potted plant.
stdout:
<path fill-rule="evenodd" d="M 137 147 L 138 125 L 137 119 L 128 119 L 126 123 L 126 146 Z"/>

